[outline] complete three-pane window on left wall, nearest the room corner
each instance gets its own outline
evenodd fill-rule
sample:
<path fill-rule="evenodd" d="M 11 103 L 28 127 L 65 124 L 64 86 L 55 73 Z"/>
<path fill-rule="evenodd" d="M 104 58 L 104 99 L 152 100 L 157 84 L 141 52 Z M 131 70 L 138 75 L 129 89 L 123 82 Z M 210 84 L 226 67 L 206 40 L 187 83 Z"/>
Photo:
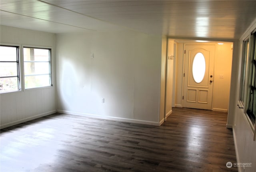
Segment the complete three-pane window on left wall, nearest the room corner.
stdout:
<path fill-rule="evenodd" d="M 52 85 L 51 49 L 23 47 L 25 89 Z"/>

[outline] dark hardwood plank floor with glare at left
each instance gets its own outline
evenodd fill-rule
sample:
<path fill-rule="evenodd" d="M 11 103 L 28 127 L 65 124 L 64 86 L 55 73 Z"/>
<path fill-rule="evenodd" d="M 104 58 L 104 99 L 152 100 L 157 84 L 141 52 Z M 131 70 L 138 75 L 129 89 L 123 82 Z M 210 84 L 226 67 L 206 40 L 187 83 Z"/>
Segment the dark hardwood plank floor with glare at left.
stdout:
<path fill-rule="evenodd" d="M 173 108 L 162 126 L 53 114 L 1 130 L 1 172 L 237 172 L 227 114 Z"/>

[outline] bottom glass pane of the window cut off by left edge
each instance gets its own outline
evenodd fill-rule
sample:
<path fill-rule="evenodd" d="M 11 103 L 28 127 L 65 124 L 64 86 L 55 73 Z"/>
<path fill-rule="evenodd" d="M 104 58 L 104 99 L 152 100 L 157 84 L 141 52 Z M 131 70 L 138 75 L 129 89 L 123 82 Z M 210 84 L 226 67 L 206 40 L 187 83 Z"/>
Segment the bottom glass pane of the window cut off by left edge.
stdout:
<path fill-rule="evenodd" d="M 0 78 L 0 92 L 18 90 L 18 78 Z"/>

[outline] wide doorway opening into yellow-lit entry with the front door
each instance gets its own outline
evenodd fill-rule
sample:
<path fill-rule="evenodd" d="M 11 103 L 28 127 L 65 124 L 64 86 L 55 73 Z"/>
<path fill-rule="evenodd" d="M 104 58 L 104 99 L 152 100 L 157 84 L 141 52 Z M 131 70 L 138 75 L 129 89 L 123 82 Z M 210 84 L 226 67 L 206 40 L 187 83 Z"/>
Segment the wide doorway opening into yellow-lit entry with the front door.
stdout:
<path fill-rule="evenodd" d="M 233 42 L 168 39 L 166 117 L 172 107 L 228 112 L 232 56 Z"/>

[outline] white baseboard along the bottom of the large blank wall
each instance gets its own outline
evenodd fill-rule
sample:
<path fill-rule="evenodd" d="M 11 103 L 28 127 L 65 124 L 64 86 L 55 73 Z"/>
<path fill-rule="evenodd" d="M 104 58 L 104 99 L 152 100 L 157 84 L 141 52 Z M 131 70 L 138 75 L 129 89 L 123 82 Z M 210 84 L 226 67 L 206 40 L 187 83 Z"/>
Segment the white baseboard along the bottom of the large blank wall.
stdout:
<path fill-rule="evenodd" d="M 122 121 L 122 122 L 131 122 L 131 123 L 136 123 L 136 124 L 146 124 L 146 125 L 152 125 L 152 126 L 160 126 L 161 122 L 162 122 L 162 120 L 161 120 L 161 122 L 153 122 L 153 121 L 145 121 L 145 120 L 119 118 L 119 117 L 113 117 L 113 116 L 101 116 L 101 115 L 96 115 L 96 114 L 86 114 L 86 113 L 81 113 L 81 112 L 72 112 L 72 111 L 68 111 L 68 110 L 57 110 L 57 112 L 62 113 L 62 114 L 85 116 L 85 117 L 99 118 L 99 119 L 104 119 L 104 120 L 115 120 L 115 121 Z"/>

